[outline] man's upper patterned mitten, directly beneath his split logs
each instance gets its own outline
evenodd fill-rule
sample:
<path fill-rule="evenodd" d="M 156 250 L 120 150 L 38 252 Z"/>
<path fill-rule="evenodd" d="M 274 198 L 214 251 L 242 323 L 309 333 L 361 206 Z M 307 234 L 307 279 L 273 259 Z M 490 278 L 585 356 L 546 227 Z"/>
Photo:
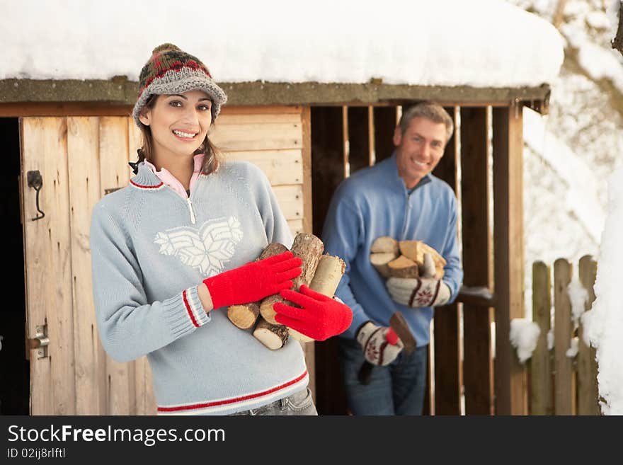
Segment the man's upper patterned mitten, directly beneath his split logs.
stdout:
<path fill-rule="evenodd" d="M 390 277 L 385 285 L 391 299 L 406 306 L 438 306 L 450 300 L 450 287 L 433 277 Z"/>

